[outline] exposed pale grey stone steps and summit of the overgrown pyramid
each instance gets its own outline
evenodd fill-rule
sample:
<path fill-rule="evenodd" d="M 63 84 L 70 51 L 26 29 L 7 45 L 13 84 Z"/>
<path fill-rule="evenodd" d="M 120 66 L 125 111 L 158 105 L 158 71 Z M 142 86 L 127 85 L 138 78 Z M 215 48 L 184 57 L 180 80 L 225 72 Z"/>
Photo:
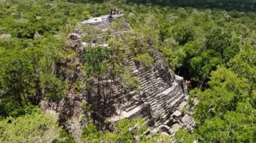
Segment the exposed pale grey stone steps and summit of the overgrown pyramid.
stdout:
<path fill-rule="evenodd" d="M 125 15 L 113 15 L 113 18 L 108 16 L 90 18 L 83 21 L 82 24 L 90 24 L 104 32 L 117 18 L 125 18 Z M 126 20 L 122 32 L 112 31 L 111 34 L 115 34 L 121 39 L 122 33 L 130 29 L 132 27 Z M 81 32 L 77 30 L 77 34 L 79 33 Z M 96 45 L 105 46 L 107 42 L 100 40 Z M 152 70 L 138 64 L 133 57 L 126 61 L 126 65 L 132 68 L 133 75 L 139 78 L 141 85 L 139 93 L 123 91 L 121 85 L 108 78 L 96 81 L 102 85 L 107 84 L 110 89 L 92 88 L 93 90 L 88 94 L 91 98 L 88 101 L 92 100 L 91 103 L 95 106 L 92 109 L 98 112 L 96 116 L 104 115 L 110 123 L 115 123 L 119 119 L 143 117 L 152 132 L 167 132 L 173 135 L 180 128 L 193 130 L 195 125 L 193 117 L 183 111 L 183 107 L 187 106 L 189 99 L 183 78 L 174 74 L 159 53 L 151 55 L 154 57 Z M 100 103 L 101 98 L 98 96 L 103 94 L 110 94 L 110 98 L 108 101 Z M 99 98 L 97 103 L 95 102 L 96 98 Z M 121 102 L 122 104 L 120 104 Z M 99 107 L 105 111 L 100 113 Z"/>

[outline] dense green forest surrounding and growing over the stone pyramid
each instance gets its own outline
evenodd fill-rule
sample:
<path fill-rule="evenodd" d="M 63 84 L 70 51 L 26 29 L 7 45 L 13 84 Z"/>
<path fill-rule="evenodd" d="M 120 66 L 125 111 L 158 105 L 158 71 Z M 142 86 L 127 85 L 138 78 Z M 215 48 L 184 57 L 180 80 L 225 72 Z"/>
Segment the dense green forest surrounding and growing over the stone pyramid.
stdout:
<path fill-rule="evenodd" d="M 249 0 L 0 0 L 0 142 L 256 142 L 255 7 Z M 123 40 L 80 25 L 117 8 L 133 28 Z M 112 30 L 122 31 L 123 21 Z M 84 49 L 67 38 L 77 29 Z M 94 46 L 98 37 L 108 47 Z M 154 52 L 189 83 L 183 110 L 195 119 L 193 131 L 149 133 L 141 118 L 105 129 L 84 98 L 79 121 L 69 117 L 73 95 L 91 95 L 105 76 L 123 93 L 137 92 L 139 79 L 124 61 L 133 56 L 151 70 Z"/>

